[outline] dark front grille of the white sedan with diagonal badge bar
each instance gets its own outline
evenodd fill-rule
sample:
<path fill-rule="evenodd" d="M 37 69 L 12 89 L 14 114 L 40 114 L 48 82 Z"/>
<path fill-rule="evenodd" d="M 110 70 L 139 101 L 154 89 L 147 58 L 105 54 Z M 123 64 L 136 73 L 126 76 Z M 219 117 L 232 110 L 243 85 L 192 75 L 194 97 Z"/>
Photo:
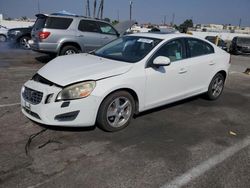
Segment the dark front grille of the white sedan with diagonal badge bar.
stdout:
<path fill-rule="evenodd" d="M 23 92 L 23 98 L 31 104 L 39 104 L 42 101 L 43 93 L 30 88 L 25 87 Z"/>

